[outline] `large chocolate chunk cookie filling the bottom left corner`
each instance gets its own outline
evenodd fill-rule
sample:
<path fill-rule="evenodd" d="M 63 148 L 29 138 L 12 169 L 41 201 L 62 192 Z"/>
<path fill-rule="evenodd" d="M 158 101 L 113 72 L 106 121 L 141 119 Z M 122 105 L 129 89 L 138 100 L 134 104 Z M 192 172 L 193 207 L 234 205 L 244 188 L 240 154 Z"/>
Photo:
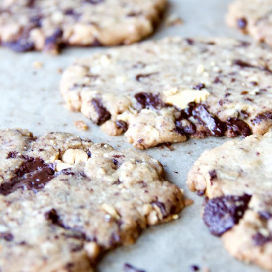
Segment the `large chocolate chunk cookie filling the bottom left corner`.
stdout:
<path fill-rule="evenodd" d="M 0 271 L 87 272 L 105 251 L 178 218 L 162 165 L 68 133 L 0 130 Z"/>

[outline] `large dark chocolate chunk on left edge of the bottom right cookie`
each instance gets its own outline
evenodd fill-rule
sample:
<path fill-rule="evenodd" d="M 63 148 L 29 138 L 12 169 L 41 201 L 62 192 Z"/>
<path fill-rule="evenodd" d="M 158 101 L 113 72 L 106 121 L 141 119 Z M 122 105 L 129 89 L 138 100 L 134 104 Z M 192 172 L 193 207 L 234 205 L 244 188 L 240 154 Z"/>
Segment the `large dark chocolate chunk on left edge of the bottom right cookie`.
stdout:
<path fill-rule="evenodd" d="M 250 195 L 220 196 L 212 198 L 205 206 L 203 220 L 213 235 L 221 236 L 243 217 L 251 199 Z"/>

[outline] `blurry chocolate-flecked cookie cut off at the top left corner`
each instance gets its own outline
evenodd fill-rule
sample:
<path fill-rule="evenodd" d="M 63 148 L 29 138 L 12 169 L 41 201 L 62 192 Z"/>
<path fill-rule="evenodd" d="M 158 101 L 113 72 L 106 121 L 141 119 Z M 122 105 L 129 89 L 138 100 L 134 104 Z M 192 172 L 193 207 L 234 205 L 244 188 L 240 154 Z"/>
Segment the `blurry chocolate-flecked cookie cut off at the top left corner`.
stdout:
<path fill-rule="evenodd" d="M 150 35 L 167 0 L 1 0 L 0 43 L 58 53 L 64 45 L 130 44 Z"/>

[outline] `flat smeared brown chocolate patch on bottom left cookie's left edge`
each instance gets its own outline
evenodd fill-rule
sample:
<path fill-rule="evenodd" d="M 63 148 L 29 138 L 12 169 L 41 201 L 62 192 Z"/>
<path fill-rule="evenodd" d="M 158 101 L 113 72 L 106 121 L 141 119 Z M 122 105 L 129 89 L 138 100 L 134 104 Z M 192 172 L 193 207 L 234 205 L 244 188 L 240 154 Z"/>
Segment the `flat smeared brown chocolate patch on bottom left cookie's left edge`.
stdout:
<path fill-rule="evenodd" d="M 41 190 L 45 184 L 55 177 L 52 164 L 41 158 L 25 157 L 26 161 L 15 171 L 16 177 L 0 185 L 0 194 L 8 195 L 19 188 Z"/>

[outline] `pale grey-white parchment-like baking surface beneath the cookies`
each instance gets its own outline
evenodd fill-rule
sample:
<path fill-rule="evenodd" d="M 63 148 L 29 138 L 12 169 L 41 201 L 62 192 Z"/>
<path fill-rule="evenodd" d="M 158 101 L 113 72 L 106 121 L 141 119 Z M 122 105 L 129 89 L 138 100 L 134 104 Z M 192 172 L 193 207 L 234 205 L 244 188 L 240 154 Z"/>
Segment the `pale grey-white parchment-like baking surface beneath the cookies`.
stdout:
<path fill-rule="evenodd" d="M 230 0 L 169 0 L 169 14 L 175 13 L 184 20 L 182 26 L 159 28 L 150 39 L 169 35 L 229 36 L 242 38 L 238 31 L 225 26 L 224 16 Z M 66 49 L 59 56 L 42 53 L 16 54 L 0 49 L 0 128 L 22 127 L 35 135 L 48 131 L 64 131 L 89 137 L 94 142 L 108 142 L 115 148 L 131 147 L 125 137 L 110 137 L 80 113 L 69 112 L 58 91 L 61 74 L 75 57 L 103 50 L 101 48 Z M 32 68 L 32 63 L 43 63 L 41 69 Z M 88 131 L 79 131 L 74 126 L 84 120 Z M 166 178 L 185 189 L 194 205 L 181 213 L 173 223 L 151 227 L 143 232 L 135 245 L 121 247 L 108 253 L 98 266 L 99 272 L 121 272 L 124 263 L 130 263 L 147 272 L 189 272 L 191 265 L 210 272 L 261 272 L 255 266 L 245 265 L 229 256 L 219 238 L 208 233 L 200 211 L 203 199 L 188 191 L 186 175 L 193 162 L 205 149 L 222 144 L 224 138 L 189 140 L 168 148 L 152 148 L 146 152 L 165 165 Z M 174 173 L 177 171 L 178 174 Z"/>

